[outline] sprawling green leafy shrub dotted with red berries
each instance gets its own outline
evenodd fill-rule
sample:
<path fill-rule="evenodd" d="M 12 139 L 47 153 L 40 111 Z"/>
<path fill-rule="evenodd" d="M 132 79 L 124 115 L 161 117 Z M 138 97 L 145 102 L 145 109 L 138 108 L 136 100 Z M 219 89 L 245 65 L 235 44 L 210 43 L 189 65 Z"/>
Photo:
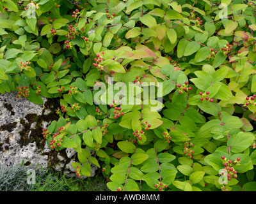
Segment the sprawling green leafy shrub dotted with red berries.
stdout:
<path fill-rule="evenodd" d="M 42 136 L 77 151 L 78 177 L 93 163 L 111 191 L 256 188 L 253 1 L 0 8 L 0 92 L 60 99 Z"/>

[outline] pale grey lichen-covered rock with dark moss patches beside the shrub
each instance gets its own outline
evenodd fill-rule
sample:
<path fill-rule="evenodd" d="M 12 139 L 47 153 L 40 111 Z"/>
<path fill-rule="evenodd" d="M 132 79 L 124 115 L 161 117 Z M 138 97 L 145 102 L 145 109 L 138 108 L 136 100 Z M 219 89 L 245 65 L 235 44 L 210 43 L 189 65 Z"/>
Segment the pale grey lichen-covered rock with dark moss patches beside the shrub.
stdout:
<path fill-rule="evenodd" d="M 72 162 L 76 150 L 52 151 L 42 137 L 42 129 L 58 120 L 55 110 L 58 99 L 42 98 L 44 105 L 36 105 L 15 93 L 0 94 L 0 164 L 24 164 L 43 170 L 54 168 L 73 176 Z M 92 166 L 92 176 L 97 166 Z"/>

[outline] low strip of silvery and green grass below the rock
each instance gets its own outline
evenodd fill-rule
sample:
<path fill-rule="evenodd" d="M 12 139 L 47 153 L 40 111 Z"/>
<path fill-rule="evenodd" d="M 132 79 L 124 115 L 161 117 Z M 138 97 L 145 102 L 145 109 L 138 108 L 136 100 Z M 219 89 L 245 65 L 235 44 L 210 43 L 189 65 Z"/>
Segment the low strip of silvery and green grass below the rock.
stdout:
<path fill-rule="evenodd" d="M 36 171 L 35 184 L 28 184 L 28 169 L 20 165 L 0 165 L 0 191 L 109 191 L 100 173 L 94 177 L 78 179 L 66 177 L 58 171 Z"/>

